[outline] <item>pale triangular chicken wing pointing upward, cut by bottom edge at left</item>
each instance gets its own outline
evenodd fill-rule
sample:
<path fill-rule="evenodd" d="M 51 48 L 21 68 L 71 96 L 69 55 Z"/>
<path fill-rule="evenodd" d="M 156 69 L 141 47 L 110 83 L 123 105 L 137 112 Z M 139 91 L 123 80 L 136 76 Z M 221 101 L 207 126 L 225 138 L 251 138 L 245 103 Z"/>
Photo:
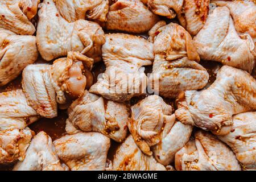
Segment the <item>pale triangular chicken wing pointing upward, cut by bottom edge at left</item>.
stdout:
<path fill-rule="evenodd" d="M 27 149 L 26 157 L 15 164 L 13 171 L 64 171 L 51 137 L 44 131 L 37 134 Z"/>

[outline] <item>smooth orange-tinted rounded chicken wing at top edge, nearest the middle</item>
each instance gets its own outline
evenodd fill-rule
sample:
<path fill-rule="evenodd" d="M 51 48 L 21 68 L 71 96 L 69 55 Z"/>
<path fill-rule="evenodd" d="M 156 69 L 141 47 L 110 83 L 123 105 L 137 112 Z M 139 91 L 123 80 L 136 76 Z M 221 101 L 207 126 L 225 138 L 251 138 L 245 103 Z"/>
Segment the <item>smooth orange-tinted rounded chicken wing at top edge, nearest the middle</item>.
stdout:
<path fill-rule="evenodd" d="M 118 0 L 109 8 L 105 28 L 139 34 L 150 30 L 158 20 L 140 0 Z"/>

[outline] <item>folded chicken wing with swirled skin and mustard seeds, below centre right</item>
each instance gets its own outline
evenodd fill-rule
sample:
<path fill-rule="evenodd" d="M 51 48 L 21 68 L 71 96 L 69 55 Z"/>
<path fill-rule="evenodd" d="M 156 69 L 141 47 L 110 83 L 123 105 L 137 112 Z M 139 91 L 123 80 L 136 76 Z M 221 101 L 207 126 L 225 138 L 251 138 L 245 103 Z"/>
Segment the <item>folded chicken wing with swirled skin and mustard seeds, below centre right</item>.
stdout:
<path fill-rule="evenodd" d="M 128 127 L 137 146 L 146 155 L 167 166 L 177 150 L 188 142 L 192 126 L 175 123 L 172 107 L 159 96 L 148 96 L 131 106 Z M 151 150 L 150 150 L 150 147 Z"/>

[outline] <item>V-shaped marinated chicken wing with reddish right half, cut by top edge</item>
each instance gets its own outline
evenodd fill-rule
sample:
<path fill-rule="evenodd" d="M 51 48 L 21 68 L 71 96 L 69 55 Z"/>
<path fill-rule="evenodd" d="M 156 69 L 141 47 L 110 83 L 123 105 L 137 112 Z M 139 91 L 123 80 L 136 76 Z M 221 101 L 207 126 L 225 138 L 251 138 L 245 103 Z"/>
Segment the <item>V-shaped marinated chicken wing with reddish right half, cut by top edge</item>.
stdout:
<path fill-rule="evenodd" d="M 167 18 L 177 18 L 189 34 L 196 35 L 203 28 L 209 12 L 210 0 L 144 0 L 155 13 Z"/>

